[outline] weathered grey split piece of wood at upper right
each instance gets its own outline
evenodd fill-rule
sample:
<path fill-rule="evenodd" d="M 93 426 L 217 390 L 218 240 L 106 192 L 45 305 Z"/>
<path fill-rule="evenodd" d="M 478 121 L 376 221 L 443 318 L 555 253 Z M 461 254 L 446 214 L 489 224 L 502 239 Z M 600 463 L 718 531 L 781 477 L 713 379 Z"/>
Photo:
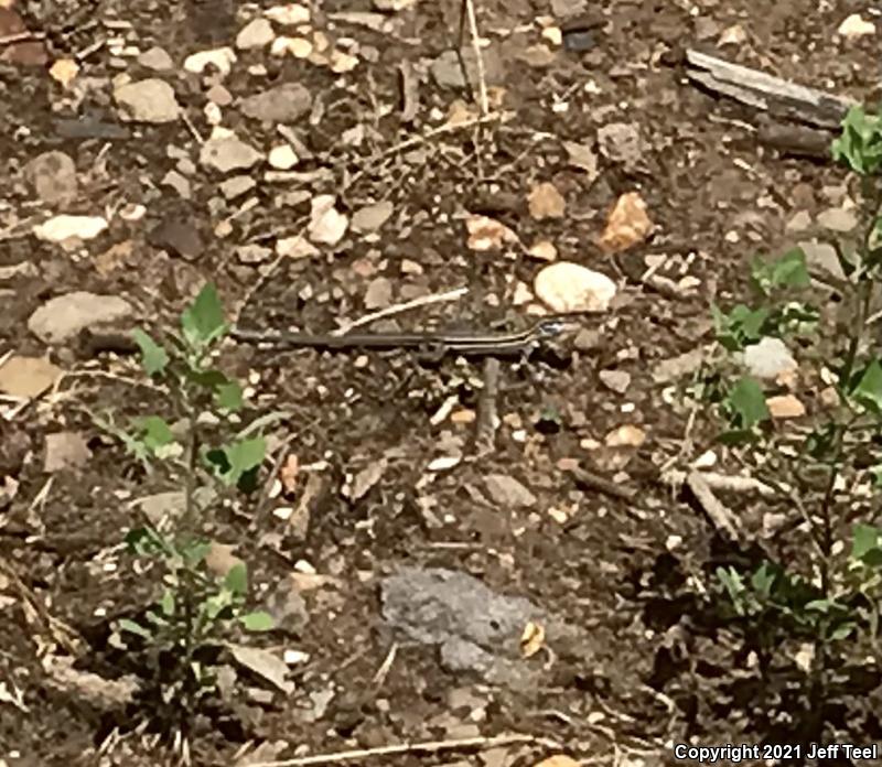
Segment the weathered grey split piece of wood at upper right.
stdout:
<path fill-rule="evenodd" d="M 688 50 L 686 63 L 687 77 L 714 94 L 777 118 L 818 128 L 837 130 L 849 107 L 856 104 L 850 98 L 796 85 L 698 51 Z"/>

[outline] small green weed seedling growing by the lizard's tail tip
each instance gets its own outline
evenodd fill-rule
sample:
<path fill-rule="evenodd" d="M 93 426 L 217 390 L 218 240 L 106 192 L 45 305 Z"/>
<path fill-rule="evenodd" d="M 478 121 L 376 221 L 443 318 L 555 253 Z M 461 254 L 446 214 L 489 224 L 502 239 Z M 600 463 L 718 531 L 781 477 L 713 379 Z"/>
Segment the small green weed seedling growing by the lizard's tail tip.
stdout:
<path fill-rule="evenodd" d="M 143 640 L 164 703 L 183 716 L 214 689 L 211 649 L 234 625 L 249 631 L 272 628 L 268 614 L 245 609 L 245 564 L 218 579 L 205 562 L 211 544 L 202 531 L 209 520 L 200 504 L 206 495 L 201 490 L 211 489 L 206 483 L 212 476 L 227 487 L 252 488 L 265 455 L 263 439 L 248 436 L 248 430 L 220 444 L 205 436 L 206 424 L 214 424 L 215 432 L 223 429 L 243 406 L 239 385 L 211 366 L 212 352 L 227 330 L 217 292 L 207 284 L 181 315 L 180 333 L 168 334 L 164 345 L 137 331 L 143 370 L 168 388 L 173 421 L 150 414 L 135 421 L 133 434 L 121 435 L 135 457 L 151 468 L 164 466 L 183 490 L 183 510 L 168 530 L 148 525 L 126 538 L 139 557 L 161 561 L 163 587 L 143 619 L 118 624 Z"/>

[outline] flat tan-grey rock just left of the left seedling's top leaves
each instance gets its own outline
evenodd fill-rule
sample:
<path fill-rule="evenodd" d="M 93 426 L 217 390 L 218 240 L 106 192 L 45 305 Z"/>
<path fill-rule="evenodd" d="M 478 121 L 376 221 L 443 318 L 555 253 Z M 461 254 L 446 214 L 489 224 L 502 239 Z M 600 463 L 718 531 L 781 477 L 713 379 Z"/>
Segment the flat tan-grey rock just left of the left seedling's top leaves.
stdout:
<path fill-rule="evenodd" d="M 63 344 L 92 325 L 131 316 L 131 304 L 118 295 L 85 291 L 51 299 L 28 320 L 28 330 L 46 344 Z"/>

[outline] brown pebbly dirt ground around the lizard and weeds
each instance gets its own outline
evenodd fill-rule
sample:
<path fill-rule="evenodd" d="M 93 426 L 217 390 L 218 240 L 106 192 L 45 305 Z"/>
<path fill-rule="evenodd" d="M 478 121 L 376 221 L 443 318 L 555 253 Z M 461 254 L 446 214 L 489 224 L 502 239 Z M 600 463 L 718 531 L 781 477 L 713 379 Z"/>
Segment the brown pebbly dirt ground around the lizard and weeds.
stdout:
<path fill-rule="evenodd" d="M 502 94 L 498 108 L 509 117 L 424 141 L 415 137 L 441 125 L 455 99 L 475 108 L 465 89 L 448 87 L 433 69 L 456 45 L 455 0 L 398 11 L 378 11 L 369 0 L 316 2 L 309 26 L 355 56 L 354 69 L 334 73 L 263 45 L 237 48 L 225 76 L 211 67 L 187 72 L 184 60 L 234 46 L 271 3 L 19 0 L 6 11 L 45 36 L 26 51 L 3 42 L 20 29 L 0 31 L 0 358 L 47 353 L 64 375 L 0 421 L 0 764 L 171 758 L 142 706 L 108 711 L 45 662 L 73 652 L 78 672 L 105 680 L 143 670 L 137 652 L 108 644 L 112 622 L 137 615 L 155 585 L 120 543 L 139 523 L 138 499 L 175 488 L 140 472 L 88 411 L 112 410 L 122 423 L 161 410 L 162 393 L 142 382 L 132 357 L 93 354 L 72 341 L 47 345 L 29 330 L 34 312 L 53 296 L 88 291 L 125 299 L 127 321 L 161 328 L 213 280 L 228 306 L 241 310 L 244 326 L 321 331 L 464 285 L 464 298 L 391 322 L 486 330 L 504 320 L 523 327 L 527 309 L 517 296 L 544 264 L 516 248 L 470 249 L 469 214 L 506 224 L 527 247 L 553 242 L 558 259 L 615 280 L 616 300 L 582 320 L 551 358 L 503 363 L 502 424 L 495 449 L 480 456 L 470 417 L 480 361 L 224 347 L 222 363 L 252 389 L 251 417 L 283 413 L 269 429 L 267 473 L 284 445 L 302 471 L 286 498 L 257 510 L 241 499 L 225 504 L 208 532 L 249 563 L 258 602 L 291 573 L 312 569 L 326 577 L 302 593 L 294 630 L 248 639 L 306 653 L 291 667 L 293 691 L 241 674 L 236 694 L 196 722 L 193 764 L 506 733 L 535 739 L 380 753 L 361 764 L 520 766 L 562 753 L 581 764 L 650 765 L 673 763 L 676 743 L 869 745 L 882 737 L 878 674 L 846 673 L 841 694 L 820 712 L 825 728 L 808 732 L 806 722 L 817 720 L 806 714 L 818 712 L 806 712 L 799 698 L 796 648 L 781 648 L 774 678 L 761 680 L 750 648 L 708 611 L 696 579 L 709 579 L 720 562 L 719 541 L 693 505 L 658 482 L 658 469 L 688 465 L 711 447 L 711 430 L 699 419 L 685 443 L 688 413 L 655 375 L 659 363 L 710 341 L 709 303 L 739 294 L 746 259 L 779 251 L 794 239 L 787 223 L 795 215 L 814 217 L 843 196 L 840 170 L 760 145 L 750 130 L 755 114 L 687 82 L 678 52 L 697 47 L 868 101 L 879 96 L 878 35 L 837 36 L 860 10 L 842 1 L 612 0 L 587 11 L 576 0 L 475 4 L 488 41 L 486 78 L 502 89 L 491 96 Z M 557 44 L 553 32 L 544 36 L 544 25 L 584 12 L 593 14 L 582 24 L 588 31 L 571 37 L 584 50 Z M 386 26 L 372 28 L 378 23 Z M 275 24 L 275 34 L 282 29 Z M 168 53 L 170 68 L 139 60 L 154 46 Z M 66 87 L 49 73 L 58 60 L 79 66 Z M 114 93 L 125 75 L 170 84 L 180 119 L 120 119 Z M 416 105 L 402 104 L 408 76 L 417 80 Z M 284 83 L 311 96 L 301 117 L 252 119 L 240 109 Z M 261 164 L 229 174 L 256 182 L 247 188 L 243 181 L 240 195 L 223 187 L 224 174 L 200 159 L 216 112 L 261 155 L 284 143 L 278 125 L 287 125 L 300 162 L 275 180 Z M 85 134 L 72 128 L 77 118 Z M 612 123 L 636 130 L 637 144 L 624 156 L 599 143 Z M 596 171 L 573 166 L 563 142 L 588 147 Z M 75 164 L 76 191 L 61 203 L 53 197 L 61 182 L 41 193 L 29 171 L 49 151 Z M 540 182 L 564 197 L 563 215 L 530 214 L 528 194 Z M 598 238 L 628 192 L 645 202 L 654 230 L 610 255 Z M 351 228 L 311 255 L 276 259 L 277 241 L 304 230 L 319 194 L 334 195 L 348 216 L 386 202 L 391 215 L 375 231 Z M 141 217 L 132 205 L 144 207 Z M 105 216 L 109 226 L 77 247 L 32 235 L 33 224 L 62 212 Z M 692 289 L 668 294 L 642 282 L 654 256 L 666 257 L 660 276 L 693 278 Z M 620 375 L 602 375 L 610 371 Z M 450 417 L 433 419 L 448 406 Z M 609 435 L 623 426 L 638 428 L 645 440 L 616 445 Z M 46 436 L 72 432 L 86 457 L 49 466 Z M 427 471 L 451 454 L 464 460 Z M 578 486 L 568 461 L 627 493 Z M 346 488 L 366 469 L 373 476 L 353 498 Z M 515 479 L 530 497 L 506 505 L 487 489 L 490 475 Z M 745 514 L 755 504 L 727 500 Z M 300 505 L 304 529 L 273 515 L 273 505 Z M 523 661 L 539 680 L 527 688 L 451 671 L 437 647 L 400 641 L 384 620 L 380 580 L 402 565 L 475 575 L 579 627 L 583 639 L 556 646 L 548 637 L 547 652 Z M 65 647 L 64 626 L 80 645 Z"/>

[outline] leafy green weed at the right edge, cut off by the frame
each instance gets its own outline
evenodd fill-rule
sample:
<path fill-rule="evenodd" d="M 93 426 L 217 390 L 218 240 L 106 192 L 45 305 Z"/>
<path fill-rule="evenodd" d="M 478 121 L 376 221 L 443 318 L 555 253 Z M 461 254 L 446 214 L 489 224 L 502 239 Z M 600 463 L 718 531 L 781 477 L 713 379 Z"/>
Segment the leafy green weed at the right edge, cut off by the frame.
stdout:
<path fill-rule="evenodd" d="M 796 526 L 808 533 L 807 544 L 796 549 L 795 561 L 786 566 L 765 562 L 753 572 L 721 568 L 717 575 L 718 593 L 725 597 L 721 606 L 729 605 L 728 614 L 750 637 L 764 673 L 782 641 L 795 639 L 811 648 L 804 666 L 809 710 L 817 715 L 831 670 L 842 660 L 842 642 L 867 636 L 864 631 L 874 640 L 882 604 L 882 530 L 865 517 L 872 497 L 849 493 L 861 484 L 876 490 L 882 485 L 882 344 L 876 327 L 882 305 L 882 119 L 852 108 L 832 155 L 857 176 L 860 199 L 858 236 L 828 242 L 841 268 L 836 279 L 839 303 L 829 291 L 819 298 L 802 249 L 754 260 L 755 301 L 727 311 L 712 307 L 722 354 L 693 392 L 717 406 L 724 424 L 720 441 L 798 515 Z M 831 313 L 833 306 L 839 311 Z M 744 375 L 747 358 L 760 352 L 766 358 L 793 354 L 799 360 L 799 384 Z M 800 408 L 790 409 L 788 415 L 797 415 L 793 420 L 775 413 L 772 406 L 784 399 L 793 404 L 790 392 L 804 391 L 799 387 L 805 384 L 818 392 L 807 412 L 798 417 Z M 875 641 L 872 651 L 882 659 Z"/>

